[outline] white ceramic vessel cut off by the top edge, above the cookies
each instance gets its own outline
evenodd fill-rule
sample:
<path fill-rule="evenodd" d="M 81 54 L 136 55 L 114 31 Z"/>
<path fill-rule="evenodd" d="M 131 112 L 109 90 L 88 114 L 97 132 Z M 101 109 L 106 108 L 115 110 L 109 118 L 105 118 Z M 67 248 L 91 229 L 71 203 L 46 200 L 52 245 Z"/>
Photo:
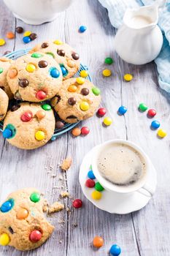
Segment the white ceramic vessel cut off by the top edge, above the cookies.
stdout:
<path fill-rule="evenodd" d="M 31 25 L 52 21 L 74 0 L 4 0 L 16 18 Z"/>

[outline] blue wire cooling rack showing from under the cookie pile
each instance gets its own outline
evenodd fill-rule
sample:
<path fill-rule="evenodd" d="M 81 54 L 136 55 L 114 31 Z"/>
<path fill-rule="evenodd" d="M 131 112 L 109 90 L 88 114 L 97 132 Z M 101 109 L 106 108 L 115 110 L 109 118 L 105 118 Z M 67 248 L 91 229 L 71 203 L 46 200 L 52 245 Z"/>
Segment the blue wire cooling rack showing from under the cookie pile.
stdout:
<path fill-rule="evenodd" d="M 5 57 L 7 57 L 9 59 L 18 59 L 20 56 L 23 56 L 23 55 L 27 54 L 29 52 L 29 50 L 31 50 L 31 48 L 23 49 L 23 50 L 15 50 L 12 53 L 8 53 Z M 74 77 L 80 76 L 80 72 L 82 70 L 87 70 L 88 71 L 88 67 L 80 64 L 80 69 L 74 75 Z M 88 75 L 88 77 L 86 79 L 91 81 L 90 75 Z M 62 135 L 63 133 L 68 132 L 70 129 L 75 127 L 78 123 L 79 122 L 74 123 L 74 124 L 69 124 L 69 123 L 66 123 L 66 122 L 63 121 L 64 127 L 61 128 L 61 129 L 55 129 L 51 140 L 55 140 L 59 135 Z M 1 132 L 3 131 L 3 121 L 0 121 L 0 131 Z"/>

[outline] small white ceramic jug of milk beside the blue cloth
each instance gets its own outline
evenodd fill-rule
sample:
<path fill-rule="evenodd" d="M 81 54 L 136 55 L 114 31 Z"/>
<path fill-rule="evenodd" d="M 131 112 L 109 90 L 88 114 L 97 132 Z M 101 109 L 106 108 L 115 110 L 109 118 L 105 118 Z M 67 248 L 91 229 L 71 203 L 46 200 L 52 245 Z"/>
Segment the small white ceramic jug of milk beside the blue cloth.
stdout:
<path fill-rule="evenodd" d="M 150 6 L 126 10 L 123 25 L 115 36 L 115 50 L 124 61 L 146 64 L 155 59 L 163 45 L 163 35 L 158 27 L 158 10 L 166 0 L 155 1 Z"/>

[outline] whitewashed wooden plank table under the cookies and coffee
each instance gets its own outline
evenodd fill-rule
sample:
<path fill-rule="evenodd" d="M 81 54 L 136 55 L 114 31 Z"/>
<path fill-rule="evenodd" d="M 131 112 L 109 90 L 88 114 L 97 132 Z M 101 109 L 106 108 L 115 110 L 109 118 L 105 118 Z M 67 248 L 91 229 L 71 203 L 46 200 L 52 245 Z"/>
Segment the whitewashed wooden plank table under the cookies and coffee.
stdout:
<path fill-rule="evenodd" d="M 77 32 L 80 25 L 88 27 L 84 34 Z M 51 222 L 55 225 L 53 236 L 39 249 L 31 252 L 19 252 L 8 246 L 0 248 L 2 256 L 93 256 L 108 255 L 112 244 L 119 244 L 122 255 L 126 256 L 169 256 L 170 255 L 170 145 L 169 135 L 159 140 L 156 132 L 150 129 L 151 120 L 146 113 L 139 113 L 139 102 L 145 102 L 158 112 L 156 118 L 167 132 L 170 127 L 170 98 L 158 86 L 155 64 L 132 66 L 117 57 L 113 44 L 115 29 L 109 23 L 107 10 L 97 0 L 74 1 L 69 10 L 62 12 L 53 23 L 41 26 L 28 26 L 15 19 L 0 0 L 0 37 L 7 31 L 15 31 L 23 26 L 38 34 L 36 41 L 23 45 L 22 35 L 7 40 L 0 48 L 18 50 L 33 46 L 45 39 L 61 39 L 80 53 L 82 63 L 88 65 L 93 83 L 102 91 L 101 105 L 107 108 L 112 117 L 110 127 L 102 127 L 102 118 L 94 116 L 83 125 L 90 128 L 85 137 L 72 138 L 70 132 L 55 142 L 35 151 L 23 151 L 12 147 L 0 135 L 0 193 L 4 200 L 9 191 L 22 187 L 37 187 L 53 203 L 60 192 L 69 189 L 72 198 L 81 198 L 83 207 L 73 209 L 72 199 L 64 202 L 72 212 L 61 211 L 54 214 Z M 111 56 L 112 77 L 103 78 L 102 70 L 107 67 L 104 59 Z M 131 83 L 123 81 L 123 74 L 134 75 Z M 167 70 L 169 72 L 169 70 Z M 117 108 L 123 104 L 128 108 L 125 116 L 117 116 Z M 82 124 L 80 124 L 81 127 Z M 108 214 L 93 206 L 82 195 L 78 181 L 80 163 L 83 156 L 96 144 L 104 140 L 123 138 L 142 146 L 155 165 L 158 173 L 157 191 L 150 203 L 141 211 L 127 215 Z M 66 175 L 61 173 L 58 164 L 65 157 L 72 157 L 73 165 Z M 56 175 L 55 178 L 52 176 Z M 63 176 L 63 179 L 60 177 Z M 56 189 L 54 187 L 60 187 Z M 114 202 L 112 202 L 114 203 Z M 61 220 L 64 223 L 61 224 Z M 77 227 L 74 224 L 77 223 Z M 96 251 L 91 246 L 94 236 L 104 238 L 104 246 Z"/>

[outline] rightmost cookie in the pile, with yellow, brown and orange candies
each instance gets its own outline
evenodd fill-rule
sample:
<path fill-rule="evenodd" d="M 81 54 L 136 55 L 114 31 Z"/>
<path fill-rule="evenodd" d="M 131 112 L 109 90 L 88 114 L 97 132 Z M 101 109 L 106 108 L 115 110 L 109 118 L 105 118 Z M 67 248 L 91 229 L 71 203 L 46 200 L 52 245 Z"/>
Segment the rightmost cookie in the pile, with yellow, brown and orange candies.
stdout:
<path fill-rule="evenodd" d="M 100 101 L 100 90 L 93 83 L 85 78 L 70 78 L 63 81 L 51 104 L 61 119 L 75 123 L 93 116 Z"/>

